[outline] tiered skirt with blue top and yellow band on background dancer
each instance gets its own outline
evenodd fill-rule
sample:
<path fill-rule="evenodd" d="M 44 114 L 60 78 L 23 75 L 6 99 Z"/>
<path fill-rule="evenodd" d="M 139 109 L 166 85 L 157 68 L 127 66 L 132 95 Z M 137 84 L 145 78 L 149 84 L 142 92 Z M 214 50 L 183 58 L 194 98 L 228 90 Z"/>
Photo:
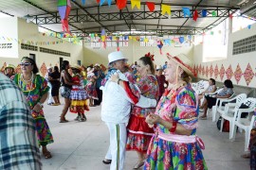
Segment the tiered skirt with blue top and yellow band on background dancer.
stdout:
<path fill-rule="evenodd" d="M 70 93 L 71 105 L 70 112 L 73 113 L 84 113 L 84 110 L 89 110 L 87 99 L 89 98 L 88 94 L 84 89 L 81 90 L 72 90 Z"/>

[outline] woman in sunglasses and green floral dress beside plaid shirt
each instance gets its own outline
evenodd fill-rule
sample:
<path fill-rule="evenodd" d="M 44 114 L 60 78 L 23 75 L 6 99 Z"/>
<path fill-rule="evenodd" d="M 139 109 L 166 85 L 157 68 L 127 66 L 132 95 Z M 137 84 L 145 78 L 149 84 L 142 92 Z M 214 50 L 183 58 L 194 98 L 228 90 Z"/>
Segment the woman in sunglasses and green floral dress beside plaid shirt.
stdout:
<path fill-rule="evenodd" d="M 37 137 L 39 145 L 42 145 L 42 152 L 46 159 L 51 158 L 46 145 L 53 143 L 53 137 L 46 123 L 44 114 L 44 102 L 47 98 L 49 87 L 43 76 L 37 75 L 38 68 L 34 59 L 24 57 L 21 60 L 21 74 L 14 76 L 14 82 L 27 97 L 27 104 L 35 119 Z M 27 139 L 29 140 L 29 139 Z"/>

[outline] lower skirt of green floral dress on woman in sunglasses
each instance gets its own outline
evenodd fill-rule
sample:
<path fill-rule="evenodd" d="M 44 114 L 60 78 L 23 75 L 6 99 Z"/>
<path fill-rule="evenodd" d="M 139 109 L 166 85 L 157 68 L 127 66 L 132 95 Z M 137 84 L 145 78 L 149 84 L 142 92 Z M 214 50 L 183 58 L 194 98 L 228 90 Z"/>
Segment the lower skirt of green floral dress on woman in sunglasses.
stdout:
<path fill-rule="evenodd" d="M 36 132 L 39 145 L 47 145 L 53 143 L 53 137 L 46 122 L 44 111 L 35 112 L 31 111 L 32 117 L 35 119 Z"/>

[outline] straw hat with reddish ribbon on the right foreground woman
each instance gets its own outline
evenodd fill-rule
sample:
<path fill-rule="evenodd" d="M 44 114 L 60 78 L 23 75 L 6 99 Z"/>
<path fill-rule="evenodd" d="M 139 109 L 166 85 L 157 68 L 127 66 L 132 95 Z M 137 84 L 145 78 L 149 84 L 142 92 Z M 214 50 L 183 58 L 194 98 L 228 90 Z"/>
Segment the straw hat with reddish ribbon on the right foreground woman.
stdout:
<path fill-rule="evenodd" d="M 189 76 L 197 76 L 192 69 L 192 60 L 184 54 L 179 54 L 175 57 L 169 53 L 166 54 L 168 59 L 172 59 L 182 70 L 184 70 Z"/>

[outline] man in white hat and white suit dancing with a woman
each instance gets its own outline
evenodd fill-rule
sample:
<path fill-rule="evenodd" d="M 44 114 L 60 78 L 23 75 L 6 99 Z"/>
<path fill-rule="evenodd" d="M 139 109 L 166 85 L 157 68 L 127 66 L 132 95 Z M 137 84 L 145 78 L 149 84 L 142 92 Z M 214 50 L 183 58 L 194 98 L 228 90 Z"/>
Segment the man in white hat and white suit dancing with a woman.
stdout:
<path fill-rule="evenodd" d="M 103 163 L 111 163 L 111 170 L 122 170 L 125 158 L 126 126 L 130 118 L 131 104 L 141 108 L 154 108 L 156 101 L 140 95 L 138 89 L 130 88 L 134 85 L 129 83 L 123 74 L 127 59 L 121 52 L 110 53 L 108 59 L 110 69 L 101 86 L 103 93 L 101 119 L 109 129 L 110 146 Z M 113 75 L 118 75 L 119 80 L 112 81 Z"/>

